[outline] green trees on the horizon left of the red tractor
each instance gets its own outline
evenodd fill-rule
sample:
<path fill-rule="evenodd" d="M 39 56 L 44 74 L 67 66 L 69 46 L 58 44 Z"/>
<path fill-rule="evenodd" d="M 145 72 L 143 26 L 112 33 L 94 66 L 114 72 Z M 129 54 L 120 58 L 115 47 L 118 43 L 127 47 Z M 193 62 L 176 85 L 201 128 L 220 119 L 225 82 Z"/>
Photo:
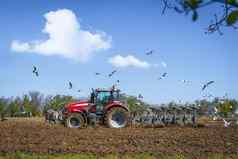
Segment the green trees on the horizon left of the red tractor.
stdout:
<path fill-rule="evenodd" d="M 76 100 L 72 96 L 65 95 L 44 96 L 37 91 L 31 91 L 22 97 L 0 97 L 0 115 L 4 118 L 14 117 L 20 112 L 30 112 L 31 116 L 42 116 L 50 108 L 58 110 L 66 103 Z"/>

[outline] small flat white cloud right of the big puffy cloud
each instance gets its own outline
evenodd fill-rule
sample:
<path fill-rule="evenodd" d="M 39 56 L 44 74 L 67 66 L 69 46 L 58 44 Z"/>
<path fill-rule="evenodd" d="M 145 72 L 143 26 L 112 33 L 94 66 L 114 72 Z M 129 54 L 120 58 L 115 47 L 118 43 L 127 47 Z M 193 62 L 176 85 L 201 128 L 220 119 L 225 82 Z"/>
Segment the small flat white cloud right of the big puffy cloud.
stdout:
<path fill-rule="evenodd" d="M 121 56 L 116 55 L 109 59 L 109 63 L 111 63 L 115 67 L 138 67 L 138 68 L 148 68 L 151 65 L 146 61 L 141 61 L 132 55 Z"/>

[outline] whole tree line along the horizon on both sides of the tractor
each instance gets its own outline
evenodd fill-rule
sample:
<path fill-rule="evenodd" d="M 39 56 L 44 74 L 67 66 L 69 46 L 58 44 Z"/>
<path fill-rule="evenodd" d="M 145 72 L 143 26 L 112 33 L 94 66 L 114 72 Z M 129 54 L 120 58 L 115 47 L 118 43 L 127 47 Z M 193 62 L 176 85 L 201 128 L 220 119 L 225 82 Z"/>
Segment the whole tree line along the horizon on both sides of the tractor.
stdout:
<path fill-rule="evenodd" d="M 0 97 L 0 116 L 15 117 L 20 112 L 30 112 L 31 116 L 42 116 L 48 109 L 59 110 L 67 103 L 77 101 L 78 98 L 66 95 L 44 96 L 40 92 L 32 91 L 22 97 Z M 238 101 L 236 99 L 196 100 L 190 103 L 169 102 L 152 106 L 135 96 L 122 95 L 121 100 L 125 101 L 131 112 L 145 111 L 149 107 L 196 107 L 199 115 L 209 115 L 218 109 L 220 116 L 228 117 L 238 113 Z"/>

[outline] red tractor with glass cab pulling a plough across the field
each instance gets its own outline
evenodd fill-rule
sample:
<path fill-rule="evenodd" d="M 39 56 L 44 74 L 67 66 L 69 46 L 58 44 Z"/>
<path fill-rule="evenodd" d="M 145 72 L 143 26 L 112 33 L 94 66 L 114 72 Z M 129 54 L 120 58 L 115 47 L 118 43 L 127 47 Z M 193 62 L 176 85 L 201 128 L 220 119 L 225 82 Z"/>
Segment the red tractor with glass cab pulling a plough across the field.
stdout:
<path fill-rule="evenodd" d="M 129 109 L 120 101 L 120 90 L 92 90 L 89 100 L 69 103 L 63 111 L 64 122 L 69 128 L 82 128 L 90 123 L 100 123 L 110 128 L 126 127 Z"/>

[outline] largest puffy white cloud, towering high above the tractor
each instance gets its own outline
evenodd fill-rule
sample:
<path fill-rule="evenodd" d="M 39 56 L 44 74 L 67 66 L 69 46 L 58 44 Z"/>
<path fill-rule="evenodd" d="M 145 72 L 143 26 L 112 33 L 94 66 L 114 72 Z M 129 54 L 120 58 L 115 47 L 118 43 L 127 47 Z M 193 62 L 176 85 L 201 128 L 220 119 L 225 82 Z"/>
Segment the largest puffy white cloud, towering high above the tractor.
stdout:
<path fill-rule="evenodd" d="M 16 52 L 58 55 L 65 58 L 86 61 L 97 51 L 111 47 L 111 37 L 106 33 L 91 33 L 80 28 L 76 15 L 68 9 L 51 11 L 44 15 L 46 24 L 43 33 L 47 40 L 20 42 L 14 40 L 11 49 Z"/>

